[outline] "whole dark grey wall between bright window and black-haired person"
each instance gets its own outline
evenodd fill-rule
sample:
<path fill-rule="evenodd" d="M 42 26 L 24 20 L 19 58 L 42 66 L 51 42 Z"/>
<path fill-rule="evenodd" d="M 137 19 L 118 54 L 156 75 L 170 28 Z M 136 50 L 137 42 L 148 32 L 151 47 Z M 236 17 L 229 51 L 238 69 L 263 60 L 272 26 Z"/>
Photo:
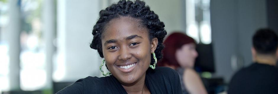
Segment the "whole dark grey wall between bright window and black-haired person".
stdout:
<path fill-rule="evenodd" d="M 216 64 L 215 76 L 229 82 L 237 71 L 232 69 L 232 57 L 242 58 L 243 65 L 252 62 L 252 35 L 267 26 L 266 1 L 212 0 L 211 31 Z"/>

